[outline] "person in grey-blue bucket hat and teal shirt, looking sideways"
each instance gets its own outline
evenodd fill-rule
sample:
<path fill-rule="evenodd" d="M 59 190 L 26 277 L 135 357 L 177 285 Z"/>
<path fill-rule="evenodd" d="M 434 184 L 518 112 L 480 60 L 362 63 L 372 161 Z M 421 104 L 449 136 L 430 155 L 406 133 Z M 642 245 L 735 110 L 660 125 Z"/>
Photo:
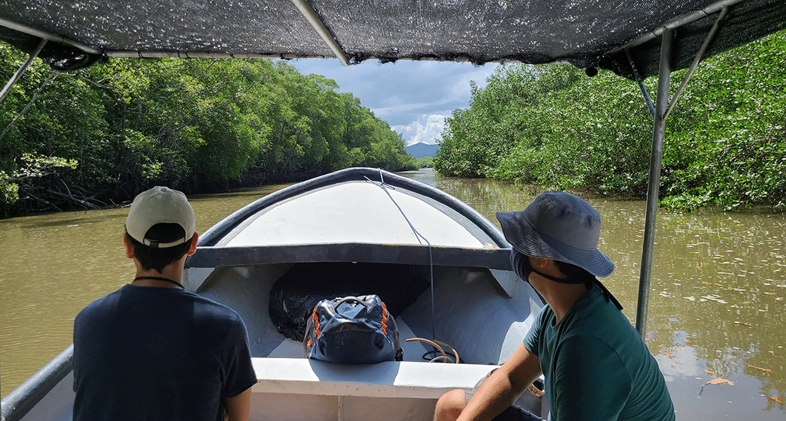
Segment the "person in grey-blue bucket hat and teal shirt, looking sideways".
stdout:
<path fill-rule="evenodd" d="M 512 269 L 548 305 L 474 394 L 453 390 L 439 399 L 435 420 L 540 419 L 510 406 L 540 375 L 549 420 L 673 420 L 655 358 L 596 278 L 614 270 L 597 249 L 597 211 L 569 193 L 543 192 L 523 211 L 497 218 L 512 245 Z"/>

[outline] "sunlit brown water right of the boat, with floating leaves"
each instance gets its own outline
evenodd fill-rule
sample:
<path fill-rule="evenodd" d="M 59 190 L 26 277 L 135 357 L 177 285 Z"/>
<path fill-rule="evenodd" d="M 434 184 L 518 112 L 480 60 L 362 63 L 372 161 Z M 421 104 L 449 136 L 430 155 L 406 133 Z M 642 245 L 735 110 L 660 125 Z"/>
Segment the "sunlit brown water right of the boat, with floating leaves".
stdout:
<path fill-rule="evenodd" d="M 435 177 L 434 184 L 495 224 L 540 192 L 506 181 Z M 645 203 L 576 193 L 603 220 L 600 249 L 615 262 L 604 280 L 634 322 Z M 786 216 L 660 210 L 647 343 L 678 419 L 786 419 Z M 711 379 L 729 384 L 707 385 Z M 773 397 L 773 399 L 770 399 Z"/>

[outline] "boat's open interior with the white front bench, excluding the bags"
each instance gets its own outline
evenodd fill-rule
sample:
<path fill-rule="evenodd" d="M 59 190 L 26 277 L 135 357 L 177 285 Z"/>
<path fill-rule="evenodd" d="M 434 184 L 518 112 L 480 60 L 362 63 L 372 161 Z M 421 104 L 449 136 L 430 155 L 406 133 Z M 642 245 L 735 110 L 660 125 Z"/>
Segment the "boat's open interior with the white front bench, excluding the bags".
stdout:
<path fill-rule="evenodd" d="M 200 273 L 198 293 L 230 304 L 246 323 L 259 379 L 252 388 L 252 419 L 302 419 L 303 412 L 314 419 L 431 419 L 439 396 L 472 390 L 516 350 L 542 306 L 528 284 L 503 288 L 492 271 L 499 277 L 504 271 L 477 267 L 434 266 L 433 300 L 429 265 L 320 262 L 226 266 L 209 274 L 190 270 L 186 282 L 196 284 Z M 282 288 L 314 284 L 321 291 L 376 294 L 389 302 L 403 361 L 351 366 L 305 358 L 303 342 L 282 334 L 270 309 Z M 432 346 L 406 342 L 411 338 L 448 344 L 461 364 L 429 362 Z M 285 405 L 270 405 L 282 400 Z M 386 410 L 367 413 L 374 402 Z M 545 399 L 528 392 L 519 403 L 532 412 L 548 411 Z M 276 413 L 266 414 L 273 406 Z"/>

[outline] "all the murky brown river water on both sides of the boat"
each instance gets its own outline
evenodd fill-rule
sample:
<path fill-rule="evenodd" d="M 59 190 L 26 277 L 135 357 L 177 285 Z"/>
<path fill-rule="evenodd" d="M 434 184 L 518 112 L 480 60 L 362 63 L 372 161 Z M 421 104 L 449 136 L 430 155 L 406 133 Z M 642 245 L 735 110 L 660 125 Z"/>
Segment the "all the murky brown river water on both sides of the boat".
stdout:
<path fill-rule="evenodd" d="M 523 209 L 537 194 L 505 181 L 402 174 L 497 225 L 495 211 Z M 193 196 L 197 231 L 283 186 Z M 645 203 L 579 196 L 601 213 L 600 248 L 616 265 L 604 284 L 634 321 Z M 0 395 L 71 344 L 80 309 L 133 279 L 123 251 L 126 215 L 112 209 L 0 220 Z M 786 215 L 659 210 L 653 265 L 645 340 L 677 419 L 786 420 Z"/>

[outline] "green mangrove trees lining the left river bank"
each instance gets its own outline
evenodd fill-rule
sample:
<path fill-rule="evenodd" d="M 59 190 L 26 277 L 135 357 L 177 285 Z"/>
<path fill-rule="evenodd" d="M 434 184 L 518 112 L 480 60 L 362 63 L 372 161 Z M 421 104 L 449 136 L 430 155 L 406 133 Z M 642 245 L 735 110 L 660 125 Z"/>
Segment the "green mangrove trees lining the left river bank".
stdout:
<path fill-rule="evenodd" d="M 7 81 L 27 56 L 0 45 Z M 416 167 L 351 93 L 272 60 L 41 60 L 0 104 L 0 217 L 296 181 L 346 167 Z"/>

